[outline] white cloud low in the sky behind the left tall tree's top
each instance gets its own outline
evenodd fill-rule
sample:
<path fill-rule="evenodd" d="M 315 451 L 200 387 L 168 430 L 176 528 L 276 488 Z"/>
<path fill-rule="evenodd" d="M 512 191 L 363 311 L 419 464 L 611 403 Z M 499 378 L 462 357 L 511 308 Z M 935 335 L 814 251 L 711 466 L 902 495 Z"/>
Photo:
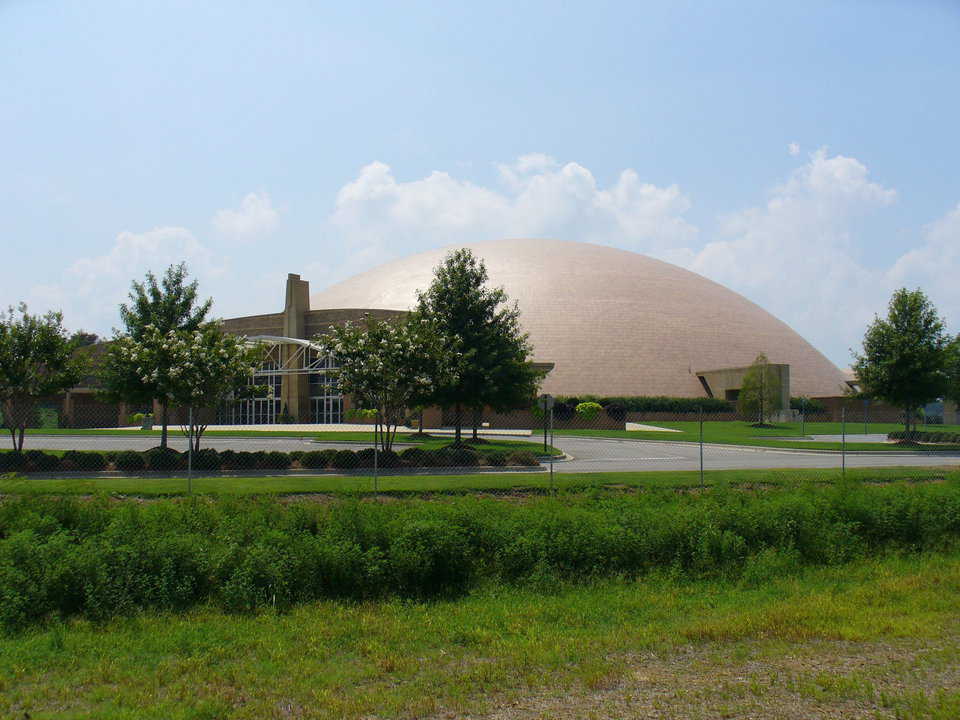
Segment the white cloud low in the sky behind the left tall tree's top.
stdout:
<path fill-rule="evenodd" d="M 103 255 L 70 265 L 59 283 L 35 286 L 29 303 L 38 310 L 62 309 L 68 327 L 106 334 L 117 325 L 117 307 L 126 301 L 133 280 L 143 280 L 148 270 L 159 276 L 181 261 L 187 263 L 191 277 L 199 279 L 201 293 L 210 294 L 205 281 L 220 276 L 222 266 L 189 230 L 161 227 L 143 233 L 121 232 Z"/>

